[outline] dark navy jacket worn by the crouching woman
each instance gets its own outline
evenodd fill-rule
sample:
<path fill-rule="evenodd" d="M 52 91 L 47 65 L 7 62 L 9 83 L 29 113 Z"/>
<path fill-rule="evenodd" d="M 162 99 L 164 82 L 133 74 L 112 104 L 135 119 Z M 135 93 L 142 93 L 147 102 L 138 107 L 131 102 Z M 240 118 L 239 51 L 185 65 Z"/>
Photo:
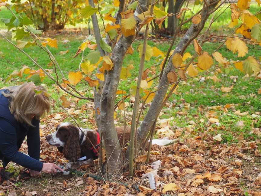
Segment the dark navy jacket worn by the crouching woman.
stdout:
<path fill-rule="evenodd" d="M 5 97 L 0 90 L 0 159 L 4 167 L 8 162 L 13 161 L 26 168 L 40 172 L 43 163 L 40 158 L 40 132 L 37 119 L 32 120 L 32 125 L 19 123 L 9 110 L 9 98 Z M 25 136 L 27 136 L 27 146 L 29 156 L 18 152 Z"/>

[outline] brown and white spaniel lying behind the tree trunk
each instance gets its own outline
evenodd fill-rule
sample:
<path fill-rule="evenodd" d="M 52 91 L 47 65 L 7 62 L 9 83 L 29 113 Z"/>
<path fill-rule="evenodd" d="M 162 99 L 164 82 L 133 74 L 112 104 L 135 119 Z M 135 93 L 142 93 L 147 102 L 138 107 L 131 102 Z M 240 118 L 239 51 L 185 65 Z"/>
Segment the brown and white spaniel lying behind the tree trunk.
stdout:
<path fill-rule="evenodd" d="M 60 152 L 63 152 L 64 157 L 69 161 L 69 163 L 63 168 L 65 171 L 79 168 L 82 165 L 91 165 L 92 160 L 98 158 L 100 144 L 99 133 L 91 129 L 81 128 L 81 130 L 71 123 L 61 123 L 56 127 L 55 132 L 46 136 L 47 142 L 50 145 L 57 146 L 57 149 Z M 116 130 L 122 145 L 124 126 L 116 127 Z M 86 136 L 89 139 L 87 139 Z M 129 137 L 130 128 L 128 127 L 125 131 L 125 144 Z M 93 146 L 95 148 L 93 148 Z"/>

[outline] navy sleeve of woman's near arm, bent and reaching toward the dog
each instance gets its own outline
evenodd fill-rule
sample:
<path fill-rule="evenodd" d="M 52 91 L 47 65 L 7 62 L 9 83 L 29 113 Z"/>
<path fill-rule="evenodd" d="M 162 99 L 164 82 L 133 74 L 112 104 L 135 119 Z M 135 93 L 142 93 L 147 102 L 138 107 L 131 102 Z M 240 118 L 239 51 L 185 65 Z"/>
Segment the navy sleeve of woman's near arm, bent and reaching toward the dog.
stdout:
<path fill-rule="evenodd" d="M 0 118 L 0 125 L 0 151 L 4 157 L 26 168 L 40 172 L 43 168 L 42 162 L 18 152 L 14 126 L 3 118 Z"/>

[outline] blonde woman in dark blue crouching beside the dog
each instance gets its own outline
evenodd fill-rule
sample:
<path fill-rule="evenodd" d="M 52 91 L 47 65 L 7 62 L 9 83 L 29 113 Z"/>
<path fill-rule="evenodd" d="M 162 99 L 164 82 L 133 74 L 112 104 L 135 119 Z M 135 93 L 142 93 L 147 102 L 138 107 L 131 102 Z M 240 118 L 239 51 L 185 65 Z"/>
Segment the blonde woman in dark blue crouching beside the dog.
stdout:
<path fill-rule="evenodd" d="M 29 169 L 30 175 L 40 172 L 52 174 L 56 169 L 53 163 L 42 163 L 40 158 L 40 117 L 50 110 L 50 101 L 44 90 L 34 83 L 0 90 L 0 159 L 4 167 L 13 161 Z M 19 152 L 25 136 L 29 156 Z"/>

